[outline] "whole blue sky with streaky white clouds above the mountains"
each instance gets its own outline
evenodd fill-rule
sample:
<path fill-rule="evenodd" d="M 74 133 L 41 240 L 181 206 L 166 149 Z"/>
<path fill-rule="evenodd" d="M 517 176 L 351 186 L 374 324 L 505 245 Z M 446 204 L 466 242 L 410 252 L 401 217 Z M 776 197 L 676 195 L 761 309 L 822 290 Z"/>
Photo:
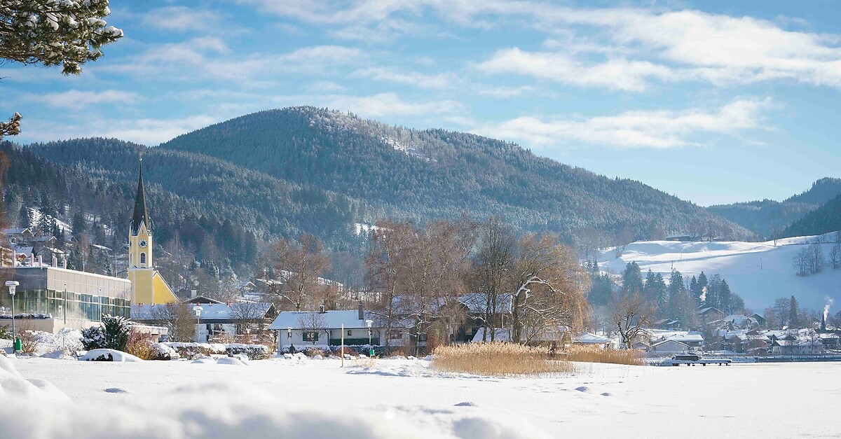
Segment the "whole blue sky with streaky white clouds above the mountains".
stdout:
<path fill-rule="evenodd" d="M 841 7 L 814 2 L 112 0 L 77 77 L 0 65 L 27 144 L 158 145 L 298 105 L 509 140 L 700 205 L 841 177 Z"/>

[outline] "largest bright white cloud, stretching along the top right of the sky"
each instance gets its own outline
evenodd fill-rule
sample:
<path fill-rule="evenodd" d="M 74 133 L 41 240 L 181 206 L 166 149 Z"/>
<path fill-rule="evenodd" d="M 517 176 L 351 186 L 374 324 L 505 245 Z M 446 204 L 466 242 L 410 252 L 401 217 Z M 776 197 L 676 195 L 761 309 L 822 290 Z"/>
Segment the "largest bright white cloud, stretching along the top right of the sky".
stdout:
<path fill-rule="evenodd" d="M 572 79 L 564 82 L 583 87 L 641 91 L 648 82 L 673 80 L 669 70 L 680 70 L 676 75 L 680 80 L 717 85 L 788 80 L 841 88 L 838 34 L 786 30 L 773 21 L 751 17 L 696 10 L 663 12 L 662 8 L 569 8 L 527 0 L 240 1 L 266 13 L 330 29 L 345 26 L 348 36 L 364 35 L 367 40 L 376 40 L 373 34 L 377 33 L 393 35 L 395 27 L 411 33 L 419 29 L 418 23 L 431 21 L 430 15 L 469 28 L 513 22 L 550 35 L 584 29 L 585 40 L 566 45 L 558 39 L 547 40 L 547 48 L 563 45 L 563 53 L 509 49 L 486 61 L 487 67 L 500 72 L 519 69 L 520 74 L 537 77 L 569 75 Z M 611 58 L 596 62 L 579 56 L 582 52 Z M 622 57 L 613 57 L 616 54 Z M 505 57 L 528 65 L 495 66 Z M 577 73 L 583 73 L 584 79 L 575 80 Z M 603 74 L 607 77 L 602 80 Z"/>

